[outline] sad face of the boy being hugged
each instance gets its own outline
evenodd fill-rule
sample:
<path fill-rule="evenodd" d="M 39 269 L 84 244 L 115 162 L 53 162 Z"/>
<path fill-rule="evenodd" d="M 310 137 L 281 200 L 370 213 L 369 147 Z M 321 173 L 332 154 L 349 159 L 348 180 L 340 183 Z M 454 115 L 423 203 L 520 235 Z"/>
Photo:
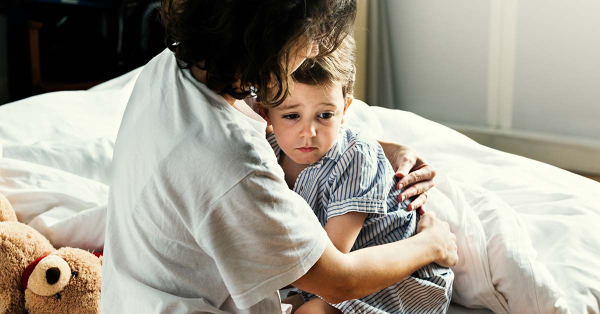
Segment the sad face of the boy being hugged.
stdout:
<path fill-rule="evenodd" d="M 319 86 L 290 82 L 290 95 L 266 116 L 280 148 L 295 163 L 319 161 L 334 145 L 351 100 L 344 101 L 340 85 Z"/>

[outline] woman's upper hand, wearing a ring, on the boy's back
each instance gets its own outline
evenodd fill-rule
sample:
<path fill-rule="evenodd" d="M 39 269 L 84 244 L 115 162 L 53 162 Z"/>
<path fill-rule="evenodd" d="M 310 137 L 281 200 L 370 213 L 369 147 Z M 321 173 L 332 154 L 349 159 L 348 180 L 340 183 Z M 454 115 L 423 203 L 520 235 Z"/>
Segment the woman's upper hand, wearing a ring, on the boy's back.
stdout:
<path fill-rule="evenodd" d="M 398 189 L 406 187 L 406 190 L 398 196 L 398 201 L 419 195 L 406 208 L 409 211 L 419 209 L 419 214 L 424 214 L 422 206 L 427 202 L 427 190 L 434 186 L 433 178 L 436 171 L 429 165 L 421 155 L 406 145 L 379 141 L 388 157 L 396 177 L 400 178 Z"/>

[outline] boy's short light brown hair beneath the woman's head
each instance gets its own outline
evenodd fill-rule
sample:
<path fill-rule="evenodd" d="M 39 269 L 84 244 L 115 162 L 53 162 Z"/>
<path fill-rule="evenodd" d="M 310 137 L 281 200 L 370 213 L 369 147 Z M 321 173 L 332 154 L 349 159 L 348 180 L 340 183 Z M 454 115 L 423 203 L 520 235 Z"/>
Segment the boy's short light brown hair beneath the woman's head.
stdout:
<path fill-rule="evenodd" d="M 329 55 L 307 59 L 294 73 L 295 82 L 307 85 L 341 85 L 344 100 L 353 97 L 356 76 L 356 44 L 348 35 Z"/>

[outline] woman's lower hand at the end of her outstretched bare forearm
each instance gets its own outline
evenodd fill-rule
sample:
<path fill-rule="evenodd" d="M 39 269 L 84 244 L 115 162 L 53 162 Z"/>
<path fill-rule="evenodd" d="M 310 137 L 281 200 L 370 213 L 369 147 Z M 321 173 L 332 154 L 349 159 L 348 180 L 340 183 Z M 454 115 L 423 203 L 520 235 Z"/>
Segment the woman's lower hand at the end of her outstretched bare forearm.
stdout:
<path fill-rule="evenodd" d="M 450 231 L 450 225 L 442 222 L 436 217 L 433 211 L 421 216 L 416 233 L 427 235 L 431 240 L 434 254 L 437 256 L 434 261 L 437 265 L 443 267 L 453 267 L 458 262 L 458 247 L 456 246 L 456 235 Z"/>

